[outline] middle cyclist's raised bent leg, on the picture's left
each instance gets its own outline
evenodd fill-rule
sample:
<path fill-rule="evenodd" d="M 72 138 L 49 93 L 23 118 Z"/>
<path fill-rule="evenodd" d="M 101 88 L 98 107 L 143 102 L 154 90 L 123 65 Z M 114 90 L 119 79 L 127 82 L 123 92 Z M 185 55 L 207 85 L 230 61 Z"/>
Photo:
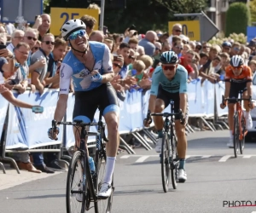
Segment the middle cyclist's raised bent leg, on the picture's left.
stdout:
<path fill-rule="evenodd" d="M 161 113 L 164 111 L 164 109 L 170 104 L 170 93 L 166 90 L 162 89 L 161 86 L 159 86 L 158 94 L 156 96 L 155 105 L 154 105 L 154 112 L 155 113 Z M 164 127 L 164 121 L 163 118 L 160 116 L 154 116 L 154 128 L 158 132 L 158 140 L 155 145 L 155 152 L 160 153 L 161 147 L 162 147 L 162 140 L 163 140 L 163 127 Z"/>

